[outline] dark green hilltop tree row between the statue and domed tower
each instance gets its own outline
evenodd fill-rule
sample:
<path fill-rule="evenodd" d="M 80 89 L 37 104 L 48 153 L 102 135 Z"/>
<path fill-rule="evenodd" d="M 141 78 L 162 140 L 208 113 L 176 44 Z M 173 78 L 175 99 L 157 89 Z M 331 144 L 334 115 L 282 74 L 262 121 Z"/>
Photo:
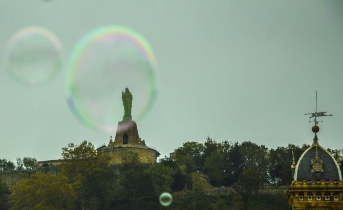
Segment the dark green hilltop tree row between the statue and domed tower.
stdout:
<path fill-rule="evenodd" d="M 256 172 L 261 181 L 280 186 L 292 181 L 292 152 L 297 161 L 309 146 L 289 144 L 268 149 L 247 141 L 240 144 L 217 142 L 207 136 L 205 143 L 186 142 L 174 150 L 173 156 L 165 156 L 160 162 L 174 174 L 188 176 L 192 172 L 203 172 L 213 186 L 230 186 L 248 169 Z M 343 161 L 343 150 L 328 150 L 338 162 Z"/>

